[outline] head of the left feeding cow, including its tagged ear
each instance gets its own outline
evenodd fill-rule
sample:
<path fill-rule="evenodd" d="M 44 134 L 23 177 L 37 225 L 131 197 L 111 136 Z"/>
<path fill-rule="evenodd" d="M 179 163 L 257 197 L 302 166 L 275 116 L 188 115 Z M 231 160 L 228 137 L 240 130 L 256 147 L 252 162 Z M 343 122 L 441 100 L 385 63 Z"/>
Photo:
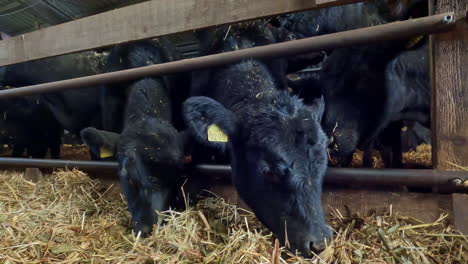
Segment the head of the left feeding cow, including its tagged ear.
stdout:
<path fill-rule="evenodd" d="M 135 233 L 148 235 L 169 209 L 183 163 L 183 140 L 171 125 L 155 118 L 135 122 L 122 134 L 86 128 L 84 142 L 95 154 L 114 153 Z M 106 149 L 107 148 L 107 149 Z"/>

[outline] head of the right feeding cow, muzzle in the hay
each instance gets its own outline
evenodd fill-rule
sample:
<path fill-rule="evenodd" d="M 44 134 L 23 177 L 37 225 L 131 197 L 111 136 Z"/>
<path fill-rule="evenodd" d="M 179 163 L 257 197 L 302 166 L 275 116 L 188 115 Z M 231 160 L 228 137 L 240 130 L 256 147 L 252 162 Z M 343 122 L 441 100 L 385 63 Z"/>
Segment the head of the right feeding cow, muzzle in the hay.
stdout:
<path fill-rule="evenodd" d="M 233 182 L 256 216 L 293 252 L 309 255 L 311 249 L 323 249 L 331 238 L 320 199 L 327 166 L 320 127 L 323 99 L 305 106 L 281 93 L 245 112 L 247 116 L 237 116 L 207 97 L 184 103 L 195 138 L 230 149 Z M 225 133 L 227 143 L 210 141 L 213 125 Z"/>

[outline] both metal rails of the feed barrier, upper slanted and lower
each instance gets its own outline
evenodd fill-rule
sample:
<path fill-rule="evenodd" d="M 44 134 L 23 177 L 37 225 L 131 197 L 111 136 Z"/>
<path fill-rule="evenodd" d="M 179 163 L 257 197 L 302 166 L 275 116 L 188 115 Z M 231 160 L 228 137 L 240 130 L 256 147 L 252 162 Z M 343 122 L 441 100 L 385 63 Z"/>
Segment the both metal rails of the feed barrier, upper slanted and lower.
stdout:
<path fill-rule="evenodd" d="M 466 15 L 465 15 L 466 16 Z M 235 63 L 244 59 L 285 57 L 331 48 L 342 48 L 371 42 L 394 40 L 415 35 L 447 31 L 455 26 L 454 13 L 428 16 L 363 29 L 349 30 L 318 37 L 277 43 L 262 47 L 185 59 L 136 69 L 116 71 L 93 76 L 44 83 L 0 91 L 0 99 L 40 93 L 77 89 L 98 84 L 135 80 L 145 76 L 163 75 Z M 0 158 L 2 167 L 79 168 L 83 170 L 116 170 L 116 162 L 67 161 L 47 159 Z M 228 176 L 230 167 L 198 165 L 200 174 Z M 338 169 L 329 168 L 325 177 L 328 184 L 406 185 L 431 187 L 444 192 L 467 192 L 468 172 L 403 169 Z"/>

